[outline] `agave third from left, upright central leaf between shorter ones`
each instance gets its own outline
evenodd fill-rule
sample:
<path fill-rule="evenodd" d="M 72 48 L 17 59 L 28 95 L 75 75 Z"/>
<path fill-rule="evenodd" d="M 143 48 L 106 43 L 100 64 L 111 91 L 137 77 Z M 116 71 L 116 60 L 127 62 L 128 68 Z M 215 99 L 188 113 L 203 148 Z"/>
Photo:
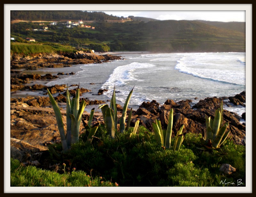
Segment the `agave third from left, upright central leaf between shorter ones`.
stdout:
<path fill-rule="evenodd" d="M 162 129 L 160 120 L 156 120 L 156 123 L 155 122 L 152 123 L 156 141 L 160 146 L 166 149 L 171 149 L 172 123 L 173 123 L 173 109 L 170 110 L 168 126 L 166 130 Z M 184 140 L 185 133 L 182 134 L 183 127 L 184 127 L 184 124 L 180 127 L 180 130 L 177 132 L 173 150 L 179 150 L 180 145 Z"/>

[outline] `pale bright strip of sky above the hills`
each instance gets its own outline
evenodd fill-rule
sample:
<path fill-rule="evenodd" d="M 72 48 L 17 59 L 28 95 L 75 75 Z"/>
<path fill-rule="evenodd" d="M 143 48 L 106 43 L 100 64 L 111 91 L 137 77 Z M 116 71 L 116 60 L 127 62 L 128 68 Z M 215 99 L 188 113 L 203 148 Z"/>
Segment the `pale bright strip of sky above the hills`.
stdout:
<path fill-rule="evenodd" d="M 89 11 L 88 11 L 89 12 Z M 245 11 L 102 11 L 113 16 L 140 16 L 157 20 L 209 20 L 245 22 Z"/>

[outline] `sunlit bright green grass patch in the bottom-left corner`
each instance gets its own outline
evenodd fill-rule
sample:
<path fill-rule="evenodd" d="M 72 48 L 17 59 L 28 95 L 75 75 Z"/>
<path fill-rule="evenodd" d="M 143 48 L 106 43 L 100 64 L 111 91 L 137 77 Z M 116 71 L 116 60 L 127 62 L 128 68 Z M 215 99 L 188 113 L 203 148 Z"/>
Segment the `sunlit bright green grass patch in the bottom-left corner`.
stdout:
<path fill-rule="evenodd" d="M 104 180 L 103 177 L 92 178 L 83 171 L 72 170 L 57 173 L 38 169 L 35 166 L 23 167 L 18 160 L 11 158 L 11 187 L 108 187 L 118 186 Z"/>

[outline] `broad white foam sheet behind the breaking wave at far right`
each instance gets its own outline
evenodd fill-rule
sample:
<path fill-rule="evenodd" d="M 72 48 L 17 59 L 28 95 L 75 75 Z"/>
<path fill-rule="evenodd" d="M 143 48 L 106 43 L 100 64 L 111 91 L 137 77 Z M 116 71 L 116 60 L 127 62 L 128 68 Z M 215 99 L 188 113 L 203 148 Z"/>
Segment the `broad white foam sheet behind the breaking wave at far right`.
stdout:
<path fill-rule="evenodd" d="M 239 60 L 244 60 L 241 54 L 238 57 Z M 239 65 L 241 61 L 237 61 L 236 54 L 230 57 L 225 54 L 217 56 L 214 53 L 196 53 L 178 60 L 175 69 L 203 79 L 243 85 L 245 84 L 245 72 L 241 72 L 241 65 Z M 245 65 L 245 62 L 243 63 Z"/>

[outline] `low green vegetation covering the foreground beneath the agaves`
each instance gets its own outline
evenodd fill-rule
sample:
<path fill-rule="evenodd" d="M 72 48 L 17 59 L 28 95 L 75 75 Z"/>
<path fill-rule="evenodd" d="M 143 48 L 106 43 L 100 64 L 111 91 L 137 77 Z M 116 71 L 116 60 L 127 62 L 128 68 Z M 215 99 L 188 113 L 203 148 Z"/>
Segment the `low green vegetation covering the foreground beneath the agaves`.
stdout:
<path fill-rule="evenodd" d="M 179 151 L 164 150 L 146 128 L 130 136 L 132 130 L 113 139 L 101 125 L 91 143 L 84 133 L 70 153 L 57 157 L 49 151 L 60 164 L 58 172 L 11 159 L 11 186 L 246 186 L 245 146 L 227 139 L 219 150 L 202 150 L 201 135 L 188 133 Z M 61 144 L 52 148 L 62 149 Z M 220 173 L 223 163 L 236 172 Z"/>

